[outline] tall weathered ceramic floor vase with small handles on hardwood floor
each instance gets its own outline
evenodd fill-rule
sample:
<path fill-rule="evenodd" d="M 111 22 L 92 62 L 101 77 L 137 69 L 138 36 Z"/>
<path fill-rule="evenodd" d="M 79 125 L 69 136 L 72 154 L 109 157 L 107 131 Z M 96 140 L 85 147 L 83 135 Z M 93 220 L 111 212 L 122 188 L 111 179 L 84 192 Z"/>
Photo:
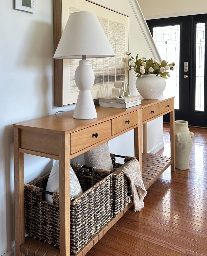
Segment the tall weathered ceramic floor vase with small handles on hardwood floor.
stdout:
<path fill-rule="evenodd" d="M 175 121 L 175 167 L 179 170 L 189 168 L 193 138 L 194 133 L 189 131 L 187 121 Z"/>

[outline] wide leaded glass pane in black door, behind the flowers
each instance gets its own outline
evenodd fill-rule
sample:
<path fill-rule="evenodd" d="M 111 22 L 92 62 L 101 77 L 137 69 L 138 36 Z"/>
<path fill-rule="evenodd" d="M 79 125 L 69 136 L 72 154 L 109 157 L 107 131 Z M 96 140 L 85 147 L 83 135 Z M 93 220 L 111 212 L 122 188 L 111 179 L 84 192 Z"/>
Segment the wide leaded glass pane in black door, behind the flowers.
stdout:
<path fill-rule="evenodd" d="M 166 79 L 164 96 L 175 96 L 175 109 L 179 109 L 180 86 L 180 25 L 153 27 L 152 36 L 162 59 L 175 62 L 175 69 Z"/>

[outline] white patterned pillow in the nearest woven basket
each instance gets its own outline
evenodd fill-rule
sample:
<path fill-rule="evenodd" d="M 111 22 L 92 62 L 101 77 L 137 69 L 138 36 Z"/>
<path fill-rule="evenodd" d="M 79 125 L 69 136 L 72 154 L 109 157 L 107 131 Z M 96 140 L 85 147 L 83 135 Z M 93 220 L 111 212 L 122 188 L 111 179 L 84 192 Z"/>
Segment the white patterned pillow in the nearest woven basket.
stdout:
<path fill-rule="evenodd" d="M 49 175 L 48 181 L 47 181 L 47 191 L 50 192 L 60 192 L 59 189 L 59 161 L 55 161 L 55 164 L 51 170 L 51 173 Z M 78 197 L 81 194 L 83 194 L 83 190 L 80 186 L 80 183 L 78 181 L 78 178 L 73 171 L 73 168 L 70 166 L 70 197 Z M 53 203 L 53 196 L 46 194 L 46 201 Z"/>

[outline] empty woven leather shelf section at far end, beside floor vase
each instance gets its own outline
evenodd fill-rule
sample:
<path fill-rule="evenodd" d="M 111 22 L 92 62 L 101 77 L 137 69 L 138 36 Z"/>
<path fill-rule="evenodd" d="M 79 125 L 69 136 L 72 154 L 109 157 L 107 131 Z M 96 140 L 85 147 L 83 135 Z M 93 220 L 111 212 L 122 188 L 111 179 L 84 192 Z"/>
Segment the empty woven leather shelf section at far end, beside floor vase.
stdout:
<path fill-rule="evenodd" d="M 145 188 L 148 189 L 172 162 L 170 157 L 164 155 L 142 154 L 142 180 Z"/>

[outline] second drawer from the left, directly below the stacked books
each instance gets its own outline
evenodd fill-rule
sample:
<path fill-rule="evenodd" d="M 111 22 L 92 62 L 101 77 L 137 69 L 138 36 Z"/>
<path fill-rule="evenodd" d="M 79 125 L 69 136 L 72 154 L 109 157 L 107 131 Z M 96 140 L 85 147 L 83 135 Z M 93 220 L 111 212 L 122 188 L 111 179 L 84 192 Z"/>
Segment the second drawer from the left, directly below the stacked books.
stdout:
<path fill-rule="evenodd" d="M 112 119 L 112 135 L 138 124 L 138 111 Z"/>

